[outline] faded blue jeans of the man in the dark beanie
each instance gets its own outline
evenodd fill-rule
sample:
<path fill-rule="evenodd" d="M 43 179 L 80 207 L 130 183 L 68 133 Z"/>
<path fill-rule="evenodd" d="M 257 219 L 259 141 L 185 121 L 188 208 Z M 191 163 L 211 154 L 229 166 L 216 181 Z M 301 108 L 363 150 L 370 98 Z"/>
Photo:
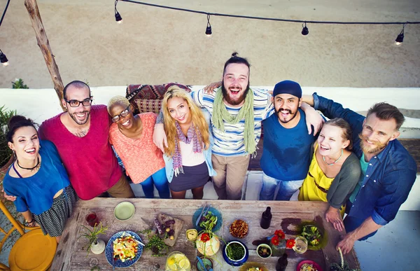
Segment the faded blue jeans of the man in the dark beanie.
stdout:
<path fill-rule="evenodd" d="M 281 181 L 262 173 L 260 200 L 273 200 L 277 186 L 280 184 L 276 200 L 290 200 L 290 197 L 302 186 L 303 180 Z"/>

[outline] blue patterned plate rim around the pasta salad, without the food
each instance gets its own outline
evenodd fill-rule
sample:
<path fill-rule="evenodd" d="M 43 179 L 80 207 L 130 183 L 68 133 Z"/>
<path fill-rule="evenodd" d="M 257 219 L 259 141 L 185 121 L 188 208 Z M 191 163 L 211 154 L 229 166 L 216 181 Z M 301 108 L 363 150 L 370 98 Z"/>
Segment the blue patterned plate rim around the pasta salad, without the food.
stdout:
<path fill-rule="evenodd" d="M 120 259 L 113 260 L 113 242 L 120 237 L 126 237 L 130 235 L 137 241 L 141 242 L 141 238 L 139 237 L 139 235 L 137 235 L 136 232 L 132 232 L 130 230 L 117 232 L 109 239 L 108 244 L 106 244 L 105 248 L 105 257 L 110 265 L 113 265 L 117 268 L 129 267 L 131 265 L 134 265 L 134 263 L 136 263 L 137 260 L 139 260 L 141 253 L 143 253 L 143 246 L 141 246 L 140 244 L 138 244 L 137 246 L 137 253 L 135 253 L 134 258 L 125 261 L 122 261 Z"/>

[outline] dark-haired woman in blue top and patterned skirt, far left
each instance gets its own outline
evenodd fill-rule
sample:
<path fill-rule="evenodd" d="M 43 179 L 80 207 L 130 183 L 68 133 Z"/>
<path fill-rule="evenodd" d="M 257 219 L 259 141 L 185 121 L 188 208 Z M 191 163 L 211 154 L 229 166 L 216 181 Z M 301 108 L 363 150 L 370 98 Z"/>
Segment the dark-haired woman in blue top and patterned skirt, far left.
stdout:
<path fill-rule="evenodd" d="M 30 227 L 41 226 L 59 242 L 78 196 L 57 149 L 40 141 L 32 120 L 23 116 L 10 118 L 7 141 L 16 160 L 4 177 L 5 192 L 16 197 L 16 210 Z"/>

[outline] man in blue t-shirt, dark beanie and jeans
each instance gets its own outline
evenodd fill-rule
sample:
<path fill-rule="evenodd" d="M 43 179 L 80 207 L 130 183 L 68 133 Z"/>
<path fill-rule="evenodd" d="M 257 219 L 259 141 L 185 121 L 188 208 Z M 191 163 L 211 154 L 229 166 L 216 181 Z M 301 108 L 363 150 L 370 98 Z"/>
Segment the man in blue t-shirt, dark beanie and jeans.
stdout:
<path fill-rule="evenodd" d="M 302 88 L 293 81 L 274 86 L 275 113 L 262 121 L 264 147 L 260 165 L 262 188 L 260 200 L 290 200 L 307 176 L 311 162 L 314 134 L 308 134 L 302 103 Z"/>

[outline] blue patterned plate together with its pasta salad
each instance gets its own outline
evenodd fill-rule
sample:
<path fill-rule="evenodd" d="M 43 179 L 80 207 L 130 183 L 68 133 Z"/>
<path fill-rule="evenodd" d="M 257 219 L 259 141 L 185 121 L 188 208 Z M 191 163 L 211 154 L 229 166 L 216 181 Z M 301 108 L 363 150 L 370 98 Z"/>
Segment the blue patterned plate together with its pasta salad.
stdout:
<path fill-rule="evenodd" d="M 117 232 L 106 244 L 106 260 L 118 268 L 134 265 L 143 252 L 143 246 L 139 242 L 141 238 L 136 232 L 130 230 Z"/>

